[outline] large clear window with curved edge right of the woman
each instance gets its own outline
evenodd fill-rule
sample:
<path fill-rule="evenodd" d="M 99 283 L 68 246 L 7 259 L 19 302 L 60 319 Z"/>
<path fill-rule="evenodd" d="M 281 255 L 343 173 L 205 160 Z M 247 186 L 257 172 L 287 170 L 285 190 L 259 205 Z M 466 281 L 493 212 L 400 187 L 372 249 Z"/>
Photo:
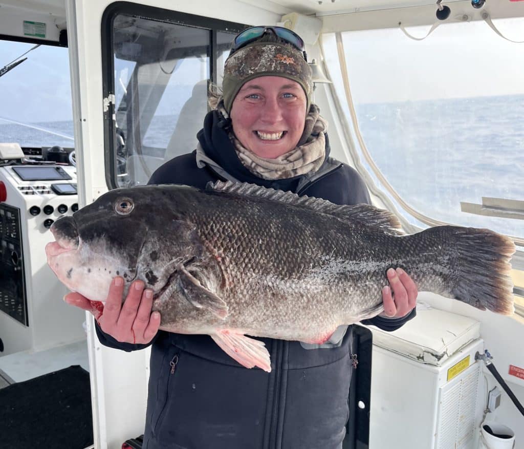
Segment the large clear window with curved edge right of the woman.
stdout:
<path fill-rule="evenodd" d="M 496 23 L 508 37 L 524 38 L 524 19 Z M 424 36 L 428 29 L 409 32 Z M 524 221 L 510 218 L 511 209 L 521 208 L 514 217 L 524 214 L 522 44 L 502 39 L 483 21 L 441 25 L 422 41 L 398 28 L 340 37 L 357 131 L 376 168 L 362 152 L 361 162 L 392 200 L 420 215 L 399 211 L 416 225 L 429 218 L 524 241 Z M 336 35 L 324 35 L 323 47 L 351 125 Z M 498 201 L 507 213 L 478 215 L 483 198 L 495 198 L 494 209 Z"/>

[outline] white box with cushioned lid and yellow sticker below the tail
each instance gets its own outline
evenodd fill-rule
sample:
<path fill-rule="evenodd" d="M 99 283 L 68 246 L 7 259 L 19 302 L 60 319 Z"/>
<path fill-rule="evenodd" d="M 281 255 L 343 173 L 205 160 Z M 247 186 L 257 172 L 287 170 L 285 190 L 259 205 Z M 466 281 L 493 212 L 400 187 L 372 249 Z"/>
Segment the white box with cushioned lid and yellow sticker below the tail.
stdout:
<path fill-rule="evenodd" d="M 476 449 L 484 411 L 480 323 L 417 306 L 395 332 L 373 332 L 370 449 Z"/>

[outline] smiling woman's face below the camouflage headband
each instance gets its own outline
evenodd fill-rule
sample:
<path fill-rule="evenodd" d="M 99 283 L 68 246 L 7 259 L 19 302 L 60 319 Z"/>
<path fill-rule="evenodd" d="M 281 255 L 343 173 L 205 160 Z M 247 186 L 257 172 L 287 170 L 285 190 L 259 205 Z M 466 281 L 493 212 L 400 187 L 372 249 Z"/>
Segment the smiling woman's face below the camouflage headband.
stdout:
<path fill-rule="evenodd" d="M 233 131 L 257 156 L 276 158 L 297 146 L 304 131 L 307 99 L 300 84 L 282 77 L 246 82 L 231 106 Z"/>

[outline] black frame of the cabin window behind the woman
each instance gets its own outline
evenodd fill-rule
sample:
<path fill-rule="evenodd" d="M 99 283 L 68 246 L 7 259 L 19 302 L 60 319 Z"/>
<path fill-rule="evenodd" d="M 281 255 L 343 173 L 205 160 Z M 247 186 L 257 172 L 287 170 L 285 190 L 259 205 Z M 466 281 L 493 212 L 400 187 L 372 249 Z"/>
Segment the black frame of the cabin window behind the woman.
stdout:
<path fill-rule="evenodd" d="M 216 83 L 216 33 L 232 33 L 232 36 L 247 28 L 249 25 L 195 14 L 182 13 L 171 9 L 157 8 L 154 6 L 139 5 L 131 2 L 115 2 L 105 8 L 102 15 L 102 90 L 103 98 L 109 98 L 115 93 L 114 61 L 113 61 L 113 23 L 117 15 L 124 14 L 138 18 L 157 20 L 174 25 L 190 26 L 208 30 L 210 32 L 210 79 Z M 104 163 L 105 179 L 108 189 L 119 187 L 117 183 L 114 121 L 116 105 L 108 102 L 104 111 Z M 203 119 L 203 117 L 202 117 Z"/>

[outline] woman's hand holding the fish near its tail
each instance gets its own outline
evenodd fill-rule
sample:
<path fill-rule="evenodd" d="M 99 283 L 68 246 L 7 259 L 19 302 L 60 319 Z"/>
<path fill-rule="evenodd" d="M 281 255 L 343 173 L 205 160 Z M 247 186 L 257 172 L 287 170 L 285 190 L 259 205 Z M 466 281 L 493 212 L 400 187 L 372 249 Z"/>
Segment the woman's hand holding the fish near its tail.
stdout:
<path fill-rule="evenodd" d="M 387 276 L 390 287 L 385 286 L 382 289 L 384 312 L 380 315 L 390 318 L 406 316 L 417 305 L 417 285 L 401 268 L 396 271 L 390 268 Z"/>

